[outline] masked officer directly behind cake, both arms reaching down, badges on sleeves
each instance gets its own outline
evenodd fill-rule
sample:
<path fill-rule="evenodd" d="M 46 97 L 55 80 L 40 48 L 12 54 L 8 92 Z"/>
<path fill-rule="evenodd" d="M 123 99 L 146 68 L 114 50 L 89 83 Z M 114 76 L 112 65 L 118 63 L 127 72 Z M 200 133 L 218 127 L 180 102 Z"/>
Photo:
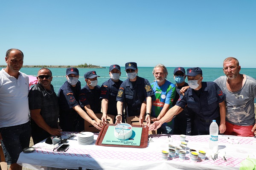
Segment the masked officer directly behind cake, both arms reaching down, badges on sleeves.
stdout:
<path fill-rule="evenodd" d="M 125 63 L 125 71 L 128 79 L 122 82 L 116 96 L 118 113 L 116 123 L 122 122 L 122 108 L 125 102 L 127 105 L 125 116 L 140 116 L 140 112 L 146 112 L 145 119 L 149 125 L 152 106 L 151 96 L 154 96 L 151 85 L 147 79 L 137 76 L 138 68 L 136 62 Z M 145 109 L 141 110 L 143 102 L 146 103 L 146 111 Z M 140 119 L 140 122 L 143 122 L 143 120 Z"/>

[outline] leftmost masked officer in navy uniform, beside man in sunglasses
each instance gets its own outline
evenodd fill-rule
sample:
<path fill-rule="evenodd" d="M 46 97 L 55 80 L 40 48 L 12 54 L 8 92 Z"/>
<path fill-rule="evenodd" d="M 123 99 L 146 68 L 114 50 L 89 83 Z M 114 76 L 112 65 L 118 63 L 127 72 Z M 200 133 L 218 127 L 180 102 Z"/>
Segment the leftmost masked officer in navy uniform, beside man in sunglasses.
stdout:
<path fill-rule="evenodd" d="M 97 129 L 101 129 L 99 124 L 90 119 L 79 105 L 79 91 L 81 83 L 78 80 L 79 71 L 77 68 L 67 68 L 67 81 L 61 86 L 58 92 L 58 102 L 60 107 L 59 125 L 63 131 L 78 132 L 78 116 L 87 120 Z M 79 114 L 79 115 L 78 115 Z"/>

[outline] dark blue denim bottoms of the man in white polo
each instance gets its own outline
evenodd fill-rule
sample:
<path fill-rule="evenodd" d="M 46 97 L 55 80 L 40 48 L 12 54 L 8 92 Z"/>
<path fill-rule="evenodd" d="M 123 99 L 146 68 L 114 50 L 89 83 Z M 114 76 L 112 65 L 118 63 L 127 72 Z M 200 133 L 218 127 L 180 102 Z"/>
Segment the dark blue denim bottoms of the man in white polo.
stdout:
<path fill-rule="evenodd" d="M 3 153 L 7 164 L 17 163 L 20 153 L 29 147 L 31 137 L 30 122 L 22 125 L 0 128 L 3 140 Z"/>

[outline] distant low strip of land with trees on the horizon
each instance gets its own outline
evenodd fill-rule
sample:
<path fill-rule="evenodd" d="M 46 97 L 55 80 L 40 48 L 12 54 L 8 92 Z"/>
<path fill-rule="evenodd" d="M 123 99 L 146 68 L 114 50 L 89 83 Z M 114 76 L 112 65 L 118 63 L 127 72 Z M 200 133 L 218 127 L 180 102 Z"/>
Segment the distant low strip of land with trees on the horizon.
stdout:
<path fill-rule="evenodd" d="M 6 67 L 6 65 L 0 65 L 0 67 Z M 80 64 L 80 65 L 23 65 L 23 68 L 70 68 L 70 67 L 76 67 L 76 68 L 106 68 L 99 65 L 92 65 L 87 63 Z"/>

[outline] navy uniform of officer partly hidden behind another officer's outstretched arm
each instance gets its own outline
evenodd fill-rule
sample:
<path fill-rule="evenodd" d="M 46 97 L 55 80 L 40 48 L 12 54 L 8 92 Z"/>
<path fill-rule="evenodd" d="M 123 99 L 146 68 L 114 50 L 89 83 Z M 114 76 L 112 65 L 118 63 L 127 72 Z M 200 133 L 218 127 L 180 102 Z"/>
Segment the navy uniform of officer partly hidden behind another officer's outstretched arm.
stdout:
<path fill-rule="evenodd" d="M 175 85 L 176 95 L 175 95 L 174 102 L 172 103 L 173 106 L 176 105 L 176 102 L 180 98 L 180 89 L 185 86 L 188 86 L 188 83 L 185 82 L 185 84 L 180 87 L 177 87 L 177 85 Z M 180 134 L 191 135 L 191 129 L 192 129 L 191 121 L 194 120 L 194 118 L 193 118 L 194 114 L 191 112 L 192 112 L 192 110 L 190 108 L 186 107 L 186 108 L 184 108 L 183 111 L 181 111 L 178 115 L 175 116 L 173 134 L 175 134 L 175 135 L 180 135 Z"/>

